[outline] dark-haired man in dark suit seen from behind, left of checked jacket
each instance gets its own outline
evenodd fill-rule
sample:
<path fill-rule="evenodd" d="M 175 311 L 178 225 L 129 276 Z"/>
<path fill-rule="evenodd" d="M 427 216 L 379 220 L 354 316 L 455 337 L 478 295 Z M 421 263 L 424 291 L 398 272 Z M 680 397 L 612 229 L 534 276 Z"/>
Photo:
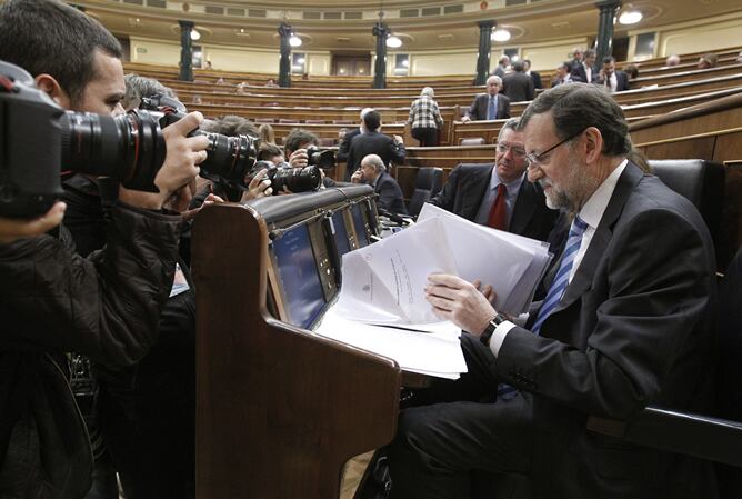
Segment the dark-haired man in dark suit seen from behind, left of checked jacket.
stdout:
<path fill-rule="evenodd" d="M 400 136 L 390 138 L 381 133 L 381 114 L 370 109 L 363 114 L 362 133 L 353 138 L 348 151 L 348 163 L 345 167 L 345 181 L 361 167 L 361 160 L 369 154 L 377 154 L 389 167 L 392 161 L 404 161 L 404 142 Z"/>

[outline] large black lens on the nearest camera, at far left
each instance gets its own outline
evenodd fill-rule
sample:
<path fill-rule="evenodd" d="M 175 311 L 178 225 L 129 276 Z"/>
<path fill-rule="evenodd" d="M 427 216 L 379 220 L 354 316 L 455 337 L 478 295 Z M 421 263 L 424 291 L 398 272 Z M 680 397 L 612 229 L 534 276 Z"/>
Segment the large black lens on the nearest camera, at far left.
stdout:
<path fill-rule="evenodd" d="M 128 189 L 157 192 L 167 152 L 158 119 L 133 110 L 117 117 L 67 111 L 60 119 L 62 168 L 113 177 Z"/>

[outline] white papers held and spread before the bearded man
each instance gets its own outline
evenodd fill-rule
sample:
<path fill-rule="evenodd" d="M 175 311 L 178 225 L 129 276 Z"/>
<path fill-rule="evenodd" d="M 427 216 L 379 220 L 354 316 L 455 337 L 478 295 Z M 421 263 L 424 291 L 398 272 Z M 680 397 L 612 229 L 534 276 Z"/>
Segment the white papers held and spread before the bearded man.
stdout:
<path fill-rule="evenodd" d="M 544 242 L 425 204 L 414 226 L 343 256 L 338 301 L 315 332 L 393 358 L 405 370 L 458 377 L 467 371 L 460 330 L 433 313 L 428 276 L 479 279 L 498 295 L 498 311 L 519 316 L 551 258 Z"/>

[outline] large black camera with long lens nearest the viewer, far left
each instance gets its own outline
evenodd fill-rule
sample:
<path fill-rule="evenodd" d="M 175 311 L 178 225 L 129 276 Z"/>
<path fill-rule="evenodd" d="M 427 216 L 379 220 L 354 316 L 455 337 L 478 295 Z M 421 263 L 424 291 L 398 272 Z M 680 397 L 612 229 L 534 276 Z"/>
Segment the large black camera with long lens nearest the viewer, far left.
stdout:
<path fill-rule="evenodd" d="M 64 111 L 18 66 L 0 61 L 0 216 L 32 218 L 59 199 L 61 171 L 157 192 L 166 157 L 158 117 Z"/>

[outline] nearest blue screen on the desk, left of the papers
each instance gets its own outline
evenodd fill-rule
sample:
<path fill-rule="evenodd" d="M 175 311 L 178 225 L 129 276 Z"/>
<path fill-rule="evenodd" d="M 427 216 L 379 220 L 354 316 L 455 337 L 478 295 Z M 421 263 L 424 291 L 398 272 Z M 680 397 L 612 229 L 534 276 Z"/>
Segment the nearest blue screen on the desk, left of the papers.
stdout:
<path fill-rule="evenodd" d="M 307 226 L 274 240 L 273 253 L 290 322 L 308 329 L 324 307 L 324 293 Z"/>

